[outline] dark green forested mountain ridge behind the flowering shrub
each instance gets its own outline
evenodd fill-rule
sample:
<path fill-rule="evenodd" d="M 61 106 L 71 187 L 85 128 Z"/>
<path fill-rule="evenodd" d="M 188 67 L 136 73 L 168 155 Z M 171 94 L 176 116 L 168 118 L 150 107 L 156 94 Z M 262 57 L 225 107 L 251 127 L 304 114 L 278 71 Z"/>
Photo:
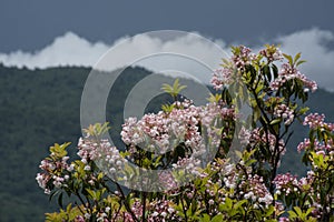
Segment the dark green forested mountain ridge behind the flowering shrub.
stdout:
<path fill-rule="evenodd" d="M 0 221 L 42 221 L 52 211 L 48 196 L 35 180 L 38 164 L 55 142 L 71 141 L 71 153 L 81 134 L 80 99 L 88 68 L 50 68 L 28 70 L 0 64 Z M 119 78 L 107 104 L 107 119 L 117 137 L 121 124 L 124 98 L 131 87 L 150 74 L 141 68 L 128 68 Z M 167 80 L 168 78 L 166 78 Z M 183 84 L 187 84 L 181 81 Z M 318 90 L 310 94 L 312 112 L 334 121 L 334 93 Z M 303 172 L 296 144 L 307 129 L 295 128 L 282 167 Z"/>

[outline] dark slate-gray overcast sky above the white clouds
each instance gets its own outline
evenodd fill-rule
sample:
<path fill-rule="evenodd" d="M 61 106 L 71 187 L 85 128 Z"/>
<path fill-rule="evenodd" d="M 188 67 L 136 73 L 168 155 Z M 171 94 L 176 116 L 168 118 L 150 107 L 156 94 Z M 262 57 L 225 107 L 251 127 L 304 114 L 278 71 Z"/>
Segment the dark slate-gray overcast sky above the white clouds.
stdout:
<path fill-rule="evenodd" d="M 41 49 L 67 31 L 112 43 L 177 29 L 252 44 L 313 27 L 334 31 L 333 10 L 332 0 L 1 0 L 0 52 Z"/>

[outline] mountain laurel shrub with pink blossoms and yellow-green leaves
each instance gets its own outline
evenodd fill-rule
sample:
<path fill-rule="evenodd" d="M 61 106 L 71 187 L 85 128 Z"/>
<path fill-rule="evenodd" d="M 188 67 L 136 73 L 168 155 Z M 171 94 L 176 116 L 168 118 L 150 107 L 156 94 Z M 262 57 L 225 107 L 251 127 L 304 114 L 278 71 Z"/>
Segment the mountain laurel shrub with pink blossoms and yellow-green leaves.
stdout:
<path fill-rule="evenodd" d="M 125 150 L 106 139 L 108 123 L 84 130 L 79 159 L 70 161 L 69 143 L 56 143 L 36 178 L 60 206 L 46 221 L 334 221 L 334 124 L 304 105 L 317 85 L 299 72 L 303 62 L 275 46 L 258 53 L 233 47 L 213 73 L 206 105 L 178 97 L 178 80 L 164 84 L 174 102 L 125 120 Z M 252 114 L 236 124 L 240 104 Z M 293 122 L 310 128 L 295 148 L 308 168 L 303 178 L 277 174 Z M 230 150 L 234 139 L 240 149 Z M 140 178 L 128 162 L 183 170 L 161 171 L 155 180 L 164 190 L 148 192 L 124 185 Z"/>

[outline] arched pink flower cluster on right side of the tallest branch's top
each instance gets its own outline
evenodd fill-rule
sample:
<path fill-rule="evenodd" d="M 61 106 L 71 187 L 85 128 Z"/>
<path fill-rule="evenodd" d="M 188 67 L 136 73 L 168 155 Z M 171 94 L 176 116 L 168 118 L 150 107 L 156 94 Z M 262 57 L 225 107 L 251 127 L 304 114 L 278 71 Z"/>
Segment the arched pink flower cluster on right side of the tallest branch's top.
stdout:
<path fill-rule="evenodd" d="M 282 64 L 282 70 L 278 73 L 278 78 L 271 83 L 272 90 L 278 90 L 285 82 L 292 79 L 299 79 L 304 87 L 308 88 L 314 92 L 317 89 L 315 81 L 308 80 L 304 74 L 299 72 L 296 68 L 292 67 L 289 63 Z M 305 91 L 308 91 L 305 89 Z"/>

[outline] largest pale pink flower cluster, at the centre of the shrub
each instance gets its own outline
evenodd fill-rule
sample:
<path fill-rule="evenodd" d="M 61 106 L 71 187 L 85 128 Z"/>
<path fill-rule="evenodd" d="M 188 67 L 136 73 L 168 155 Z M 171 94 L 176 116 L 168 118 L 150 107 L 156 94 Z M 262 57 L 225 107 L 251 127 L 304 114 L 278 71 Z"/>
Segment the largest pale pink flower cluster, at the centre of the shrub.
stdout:
<path fill-rule="evenodd" d="M 208 137 L 213 138 L 212 144 L 217 145 L 220 140 L 217 124 L 234 117 L 233 109 L 220 108 L 216 103 L 195 107 L 188 101 L 177 102 L 176 108 L 169 113 L 160 111 L 156 114 L 145 114 L 140 120 L 127 119 L 120 135 L 130 148 L 138 145 L 163 154 L 184 143 L 191 149 L 195 157 L 198 157 L 206 151 L 198 125 L 206 128 Z"/>

